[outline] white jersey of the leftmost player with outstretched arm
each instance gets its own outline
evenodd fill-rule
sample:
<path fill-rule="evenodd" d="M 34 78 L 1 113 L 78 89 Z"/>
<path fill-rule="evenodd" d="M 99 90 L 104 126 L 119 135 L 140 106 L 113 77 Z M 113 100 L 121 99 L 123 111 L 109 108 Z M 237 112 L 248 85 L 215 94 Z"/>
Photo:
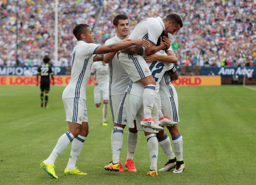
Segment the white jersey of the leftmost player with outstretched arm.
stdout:
<path fill-rule="evenodd" d="M 72 52 L 71 79 L 64 89 L 62 98 L 80 97 L 86 100 L 86 87 L 91 74 L 93 54 L 99 47 L 97 44 L 76 42 Z"/>

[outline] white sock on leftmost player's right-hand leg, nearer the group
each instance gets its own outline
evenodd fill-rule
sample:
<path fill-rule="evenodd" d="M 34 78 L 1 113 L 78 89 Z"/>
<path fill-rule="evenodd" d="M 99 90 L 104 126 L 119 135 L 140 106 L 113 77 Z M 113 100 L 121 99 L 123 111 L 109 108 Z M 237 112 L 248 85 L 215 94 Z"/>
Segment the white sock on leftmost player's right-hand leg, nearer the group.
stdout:
<path fill-rule="evenodd" d="M 81 153 L 85 139 L 86 139 L 86 137 L 78 135 L 73 140 L 72 147 L 71 147 L 71 153 L 70 153 L 70 157 L 68 160 L 68 165 L 66 167 L 68 170 L 76 169 L 76 160 Z"/>

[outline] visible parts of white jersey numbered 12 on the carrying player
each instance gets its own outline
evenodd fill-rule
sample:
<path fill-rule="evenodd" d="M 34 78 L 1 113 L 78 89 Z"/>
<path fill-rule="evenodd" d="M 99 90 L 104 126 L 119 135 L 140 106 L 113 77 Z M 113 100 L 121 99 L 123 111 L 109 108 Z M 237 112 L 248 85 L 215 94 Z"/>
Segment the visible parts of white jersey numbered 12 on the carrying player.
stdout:
<path fill-rule="evenodd" d="M 167 55 L 165 53 L 165 51 L 161 50 L 159 52 L 156 52 L 156 54 L 158 55 Z M 166 63 L 166 62 L 162 62 L 159 60 L 156 60 L 154 62 L 151 63 L 147 63 L 148 67 L 152 73 L 152 76 L 154 77 L 155 81 L 156 81 L 156 93 L 158 93 L 159 91 L 159 82 L 161 81 L 164 73 L 166 71 L 169 71 L 173 68 L 173 64 L 172 63 Z M 136 95 L 136 96 L 143 96 L 144 93 L 144 86 L 140 83 L 140 82 L 129 82 L 129 86 L 126 89 L 127 93 Z"/>

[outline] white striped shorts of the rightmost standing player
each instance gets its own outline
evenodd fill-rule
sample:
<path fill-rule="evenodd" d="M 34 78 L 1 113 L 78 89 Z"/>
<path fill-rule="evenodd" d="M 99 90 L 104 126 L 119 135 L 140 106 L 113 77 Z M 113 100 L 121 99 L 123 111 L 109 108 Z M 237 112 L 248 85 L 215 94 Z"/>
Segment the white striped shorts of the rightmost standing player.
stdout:
<path fill-rule="evenodd" d="M 172 97 L 161 99 L 161 104 L 164 116 L 170 117 L 170 119 L 175 122 L 180 121 L 177 93 Z"/>

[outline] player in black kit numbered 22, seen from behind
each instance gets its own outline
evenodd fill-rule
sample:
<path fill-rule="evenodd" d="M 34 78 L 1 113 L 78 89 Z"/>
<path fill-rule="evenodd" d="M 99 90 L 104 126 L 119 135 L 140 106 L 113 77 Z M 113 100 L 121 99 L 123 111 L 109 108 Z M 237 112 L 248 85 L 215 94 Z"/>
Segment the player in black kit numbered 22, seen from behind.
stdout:
<path fill-rule="evenodd" d="M 54 85 L 52 67 L 48 64 L 50 59 L 48 56 L 45 56 L 44 64 L 38 68 L 36 75 L 36 86 L 38 86 L 38 76 L 41 75 L 40 89 L 41 89 L 41 107 L 49 108 L 47 106 L 48 96 L 50 91 L 50 74 L 52 76 L 52 85 Z M 45 96 L 44 96 L 45 92 Z"/>

